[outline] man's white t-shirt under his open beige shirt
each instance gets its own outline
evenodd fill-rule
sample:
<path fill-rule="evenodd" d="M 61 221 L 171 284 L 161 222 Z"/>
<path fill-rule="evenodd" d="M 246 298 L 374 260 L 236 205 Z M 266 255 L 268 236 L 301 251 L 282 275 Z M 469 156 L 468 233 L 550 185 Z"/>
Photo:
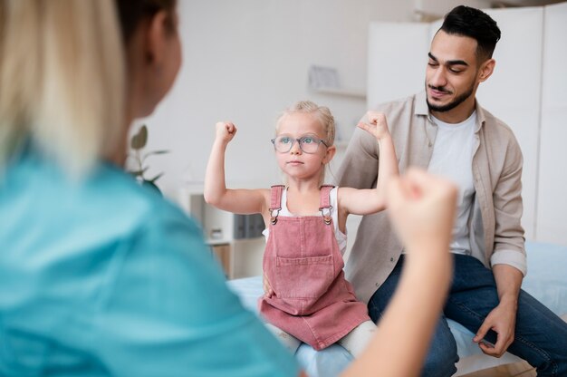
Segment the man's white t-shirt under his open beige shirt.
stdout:
<path fill-rule="evenodd" d="M 475 195 L 473 146 L 476 111 L 466 121 L 456 124 L 431 118 L 437 124 L 437 136 L 428 171 L 452 180 L 459 189 L 451 252 L 470 255 L 468 218 Z"/>

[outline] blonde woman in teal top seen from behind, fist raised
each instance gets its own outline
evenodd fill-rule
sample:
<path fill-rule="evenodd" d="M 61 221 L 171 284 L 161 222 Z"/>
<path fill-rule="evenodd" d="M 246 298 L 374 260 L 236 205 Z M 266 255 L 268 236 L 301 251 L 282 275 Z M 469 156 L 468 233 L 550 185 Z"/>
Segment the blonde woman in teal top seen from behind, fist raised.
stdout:
<path fill-rule="evenodd" d="M 193 221 L 120 169 L 178 73 L 175 0 L 0 0 L 0 25 L 0 375 L 301 374 Z M 392 185 L 407 279 L 344 375 L 415 375 L 445 297 L 455 189 Z"/>

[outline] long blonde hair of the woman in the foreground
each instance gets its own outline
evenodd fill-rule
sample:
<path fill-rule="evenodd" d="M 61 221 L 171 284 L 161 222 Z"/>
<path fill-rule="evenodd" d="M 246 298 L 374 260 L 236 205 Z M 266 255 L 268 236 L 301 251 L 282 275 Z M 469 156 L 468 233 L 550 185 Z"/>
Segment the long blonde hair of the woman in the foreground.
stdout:
<path fill-rule="evenodd" d="M 115 153 L 121 41 L 114 0 L 0 0 L 0 168 L 25 140 L 72 173 Z"/>

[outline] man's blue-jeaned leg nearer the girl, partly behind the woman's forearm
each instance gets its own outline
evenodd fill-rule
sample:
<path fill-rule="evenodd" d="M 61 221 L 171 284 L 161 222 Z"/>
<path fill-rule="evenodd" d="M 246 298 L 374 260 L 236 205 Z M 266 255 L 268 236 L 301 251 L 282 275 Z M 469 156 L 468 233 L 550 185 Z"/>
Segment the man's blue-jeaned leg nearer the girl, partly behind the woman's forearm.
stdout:
<path fill-rule="evenodd" d="M 400 256 L 398 264 L 388 276 L 388 279 L 380 285 L 380 288 L 370 298 L 368 309 L 370 318 L 375 323 L 380 321 L 382 313 L 398 286 L 403 259 L 404 256 Z M 380 326 L 380 324 L 378 325 Z M 437 322 L 421 375 L 427 377 L 451 376 L 456 372 L 456 362 L 458 362 L 458 356 L 456 355 L 455 338 L 449 330 L 445 317 L 441 317 Z"/>

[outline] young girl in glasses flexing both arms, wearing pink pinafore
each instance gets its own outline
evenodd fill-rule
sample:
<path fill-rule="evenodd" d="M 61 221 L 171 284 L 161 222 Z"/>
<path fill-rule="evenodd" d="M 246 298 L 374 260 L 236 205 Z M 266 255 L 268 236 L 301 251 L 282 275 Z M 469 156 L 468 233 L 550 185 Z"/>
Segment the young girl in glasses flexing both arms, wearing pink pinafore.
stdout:
<path fill-rule="evenodd" d="M 357 301 L 342 271 L 346 219 L 386 207 L 386 181 L 398 175 L 398 164 L 383 114 L 369 111 L 358 126 L 380 145 L 376 189 L 322 185 L 325 165 L 336 151 L 335 126 L 331 111 L 313 102 L 296 103 L 276 123 L 272 142 L 286 186 L 226 189 L 225 151 L 236 127 L 216 123 L 205 199 L 230 212 L 263 215 L 267 293 L 259 309 L 268 328 L 292 353 L 301 342 L 316 350 L 338 342 L 356 357 L 375 330 L 366 304 Z"/>

